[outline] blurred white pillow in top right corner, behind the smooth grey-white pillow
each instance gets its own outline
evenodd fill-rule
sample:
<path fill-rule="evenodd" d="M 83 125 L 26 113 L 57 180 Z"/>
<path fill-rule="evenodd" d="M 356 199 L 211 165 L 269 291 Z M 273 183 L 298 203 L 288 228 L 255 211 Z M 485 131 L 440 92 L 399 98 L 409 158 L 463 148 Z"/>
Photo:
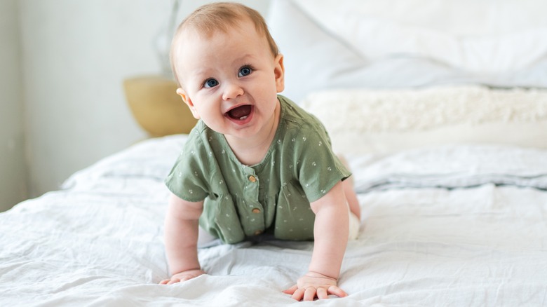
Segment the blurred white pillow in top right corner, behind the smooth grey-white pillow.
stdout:
<path fill-rule="evenodd" d="M 466 71 L 499 72 L 524 69 L 547 55 L 547 18 L 538 13 L 547 11 L 546 1 L 342 0 L 335 6 L 325 0 L 295 2 L 367 59 L 413 55 Z M 508 11 L 515 6 L 518 10 Z M 405 14 L 397 14 L 403 8 Z M 519 25 L 516 21 L 523 16 L 532 20 Z"/>

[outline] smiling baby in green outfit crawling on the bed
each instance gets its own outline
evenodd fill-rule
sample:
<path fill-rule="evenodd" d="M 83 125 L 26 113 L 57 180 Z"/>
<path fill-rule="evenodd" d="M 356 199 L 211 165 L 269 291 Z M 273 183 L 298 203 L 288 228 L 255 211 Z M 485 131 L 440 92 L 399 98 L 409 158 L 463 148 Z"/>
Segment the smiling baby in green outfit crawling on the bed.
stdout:
<path fill-rule="evenodd" d="M 173 275 L 160 283 L 205 273 L 197 250 L 202 228 L 224 243 L 314 240 L 308 273 L 283 292 L 298 301 L 346 296 L 337 280 L 360 221 L 344 181 L 351 173 L 323 125 L 278 95 L 283 55 L 262 16 L 236 3 L 198 8 L 178 27 L 171 62 L 177 94 L 200 121 L 166 179 Z"/>

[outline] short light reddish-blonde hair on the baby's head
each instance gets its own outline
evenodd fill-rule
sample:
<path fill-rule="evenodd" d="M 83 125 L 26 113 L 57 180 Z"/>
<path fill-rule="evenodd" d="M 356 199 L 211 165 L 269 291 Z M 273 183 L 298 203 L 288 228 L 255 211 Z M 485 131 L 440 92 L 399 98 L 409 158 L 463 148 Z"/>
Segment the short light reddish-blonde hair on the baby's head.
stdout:
<path fill-rule="evenodd" d="M 203 34 L 210 38 L 215 32 L 220 31 L 227 33 L 229 29 L 238 27 L 242 20 L 248 18 L 255 24 L 255 28 L 258 34 L 265 36 L 268 42 L 271 54 L 276 57 L 279 54 L 279 49 L 276 41 L 271 37 L 268 30 L 266 21 L 262 18 L 262 15 L 257 11 L 244 6 L 243 4 L 233 2 L 215 2 L 212 4 L 205 4 L 191 13 L 187 18 L 182 20 L 171 42 L 170 61 L 171 69 L 173 70 L 173 76 L 175 81 L 181 86 L 177 76 L 177 68 L 175 65 L 175 48 L 177 47 L 178 36 L 184 29 L 191 28 L 196 29 L 199 34 Z"/>

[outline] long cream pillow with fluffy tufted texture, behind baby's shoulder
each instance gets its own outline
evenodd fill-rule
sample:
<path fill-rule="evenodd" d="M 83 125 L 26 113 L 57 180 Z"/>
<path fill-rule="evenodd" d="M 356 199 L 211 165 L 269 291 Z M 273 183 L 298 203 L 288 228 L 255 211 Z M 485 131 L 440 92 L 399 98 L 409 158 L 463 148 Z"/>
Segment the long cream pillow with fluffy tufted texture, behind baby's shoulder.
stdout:
<path fill-rule="evenodd" d="M 340 153 L 452 142 L 547 148 L 547 90 L 325 90 L 308 95 L 302 107 L 323 122 Z"/>

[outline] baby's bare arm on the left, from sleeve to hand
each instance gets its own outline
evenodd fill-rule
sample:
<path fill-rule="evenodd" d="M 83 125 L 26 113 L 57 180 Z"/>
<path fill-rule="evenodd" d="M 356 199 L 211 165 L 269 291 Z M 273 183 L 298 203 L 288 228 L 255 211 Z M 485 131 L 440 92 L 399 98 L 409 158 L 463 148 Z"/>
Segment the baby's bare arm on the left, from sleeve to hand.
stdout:
<path fill-rule="evenodd" d="M 201 271 L 197 247 L 201 212 L 203 201 L 191 203 L 173 193 L 170 195 L 164 236 L 172 276 L 162 280 L 162 285 L 189 280 L 205 273 Z"/>

